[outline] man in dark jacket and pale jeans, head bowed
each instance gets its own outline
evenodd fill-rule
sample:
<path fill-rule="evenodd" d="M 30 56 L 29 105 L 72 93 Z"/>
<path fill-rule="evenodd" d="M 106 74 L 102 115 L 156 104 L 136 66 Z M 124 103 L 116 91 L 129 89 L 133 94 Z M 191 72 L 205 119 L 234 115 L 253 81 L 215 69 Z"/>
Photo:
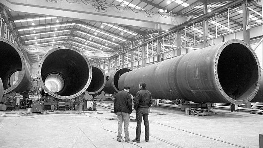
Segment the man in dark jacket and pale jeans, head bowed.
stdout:
<path fill-rule="evenodd" d="M 115 95 L 114 99 L 114 112 L 118 119 L 118 135 L 117 141 L 121 141 L 122 123 L 124 123 L 125 141 L 130 141 L 129 129 L 130 113 L 132 113 L 132 97 L 128 93 L 130 91 L 129 86 L 124 86 L 123 90 Z"/>

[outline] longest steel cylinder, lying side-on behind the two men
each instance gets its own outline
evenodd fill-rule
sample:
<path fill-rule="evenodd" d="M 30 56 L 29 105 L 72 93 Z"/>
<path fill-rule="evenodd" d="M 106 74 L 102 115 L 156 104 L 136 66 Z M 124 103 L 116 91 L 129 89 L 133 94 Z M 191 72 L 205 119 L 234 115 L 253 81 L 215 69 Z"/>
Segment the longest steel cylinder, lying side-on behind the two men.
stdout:
<path fill-rule="evenodd" d="M 135 95 L 143 81 L 153 98 L 244 104 L 256 95 L 260 80 L 253 49 L 232 39 L 127 72 L 118 86 L 129 85 Z"/>

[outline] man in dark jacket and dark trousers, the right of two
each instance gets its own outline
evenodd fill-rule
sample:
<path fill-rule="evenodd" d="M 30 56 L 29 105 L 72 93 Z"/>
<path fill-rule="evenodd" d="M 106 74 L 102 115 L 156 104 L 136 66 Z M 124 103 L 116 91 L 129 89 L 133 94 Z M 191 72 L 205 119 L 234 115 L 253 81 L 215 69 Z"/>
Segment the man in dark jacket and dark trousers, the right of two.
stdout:
<path fill-rule="evenodd" d="M 152 94 L 150 91 L 146 90 L 146 84 L 141 82 L 139 84 L 140 90 L 136 93 L 136 97 L 134 99 L 134 109 L 136 110 L 136 138 L 133 139 L 133 142 L 140 142 L 141 137 L 141 124 L 142 117 L 143 123 L 145 126 L 145 141 L 149 141 L 150 129 L 149 129 L 149 121 L 148 121 L 148 109 L 152 104 Z"/>

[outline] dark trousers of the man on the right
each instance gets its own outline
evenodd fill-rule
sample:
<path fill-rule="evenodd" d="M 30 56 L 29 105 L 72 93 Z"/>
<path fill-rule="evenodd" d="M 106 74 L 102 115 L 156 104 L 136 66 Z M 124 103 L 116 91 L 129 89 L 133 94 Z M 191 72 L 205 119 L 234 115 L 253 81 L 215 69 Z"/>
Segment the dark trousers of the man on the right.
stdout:
<path fill-rule="evenodd" d="M 149 115 L 148 108 L 138 108 L 137 109 L 137 111 L 136 111 L 137 126 L 136 126 L 136 138 L 135 138 L 135 140 L 140 141 L 142 117 L 143 117 L 143 123 L 145 126 L 145 140 L 149 140 L 150 128 L 149 128 L 148 115 Z"/>

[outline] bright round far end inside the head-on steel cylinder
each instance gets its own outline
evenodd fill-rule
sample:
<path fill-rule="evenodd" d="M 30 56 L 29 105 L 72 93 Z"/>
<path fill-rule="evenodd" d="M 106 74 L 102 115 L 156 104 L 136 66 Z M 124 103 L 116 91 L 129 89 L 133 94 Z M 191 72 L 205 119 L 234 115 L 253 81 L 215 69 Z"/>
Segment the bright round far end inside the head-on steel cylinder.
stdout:
<path fill-rule="evenodd" d="M 45 79 L 45 86 L 53 93 L 61 91 L 64 87 L 64 79 L 59 74 L 49 74 Z"/>

